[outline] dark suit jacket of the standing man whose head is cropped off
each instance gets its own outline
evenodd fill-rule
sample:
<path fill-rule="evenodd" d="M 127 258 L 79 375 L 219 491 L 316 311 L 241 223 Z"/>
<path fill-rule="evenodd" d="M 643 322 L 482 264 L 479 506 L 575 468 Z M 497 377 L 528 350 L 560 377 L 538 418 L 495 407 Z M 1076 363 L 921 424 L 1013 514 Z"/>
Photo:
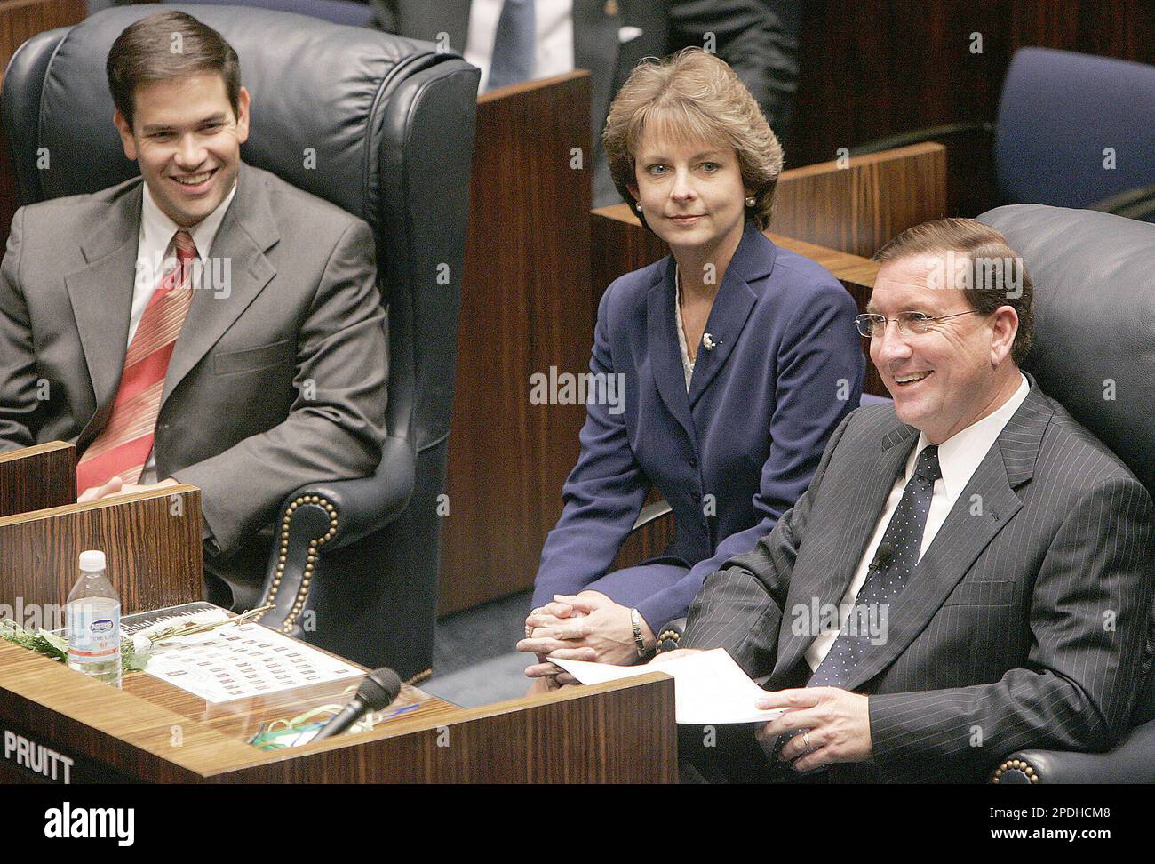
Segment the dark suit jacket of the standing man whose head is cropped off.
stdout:
<path fill-rule="evenodd" d="M 386 32 L 465 50 L 471 0 L 372 0 L 374 23 Z M 602 154 L 610 100 L 644 57 L 665 57 L 702 46 L 711 33 L 718 57 L 730 64 L 783 140 L 798 75 L 797 0 L 574 0 L 574 67 L 590 70 L 594 135 L 594 206 L 619 200 Z M 625 43 L 619 31 L 641 33 Z"/>

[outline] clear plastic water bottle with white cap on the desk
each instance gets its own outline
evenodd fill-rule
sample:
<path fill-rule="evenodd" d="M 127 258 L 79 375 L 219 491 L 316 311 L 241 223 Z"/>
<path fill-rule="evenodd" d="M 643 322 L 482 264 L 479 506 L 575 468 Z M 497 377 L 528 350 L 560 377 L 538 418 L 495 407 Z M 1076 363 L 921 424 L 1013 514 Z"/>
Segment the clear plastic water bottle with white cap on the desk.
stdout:
<path fill-rule="evenodd" d="M 68 593 L 68 668 L 120 686 L 120 597 L 105 575 L 104 552 L 80 553 L 80 579 Z"/>

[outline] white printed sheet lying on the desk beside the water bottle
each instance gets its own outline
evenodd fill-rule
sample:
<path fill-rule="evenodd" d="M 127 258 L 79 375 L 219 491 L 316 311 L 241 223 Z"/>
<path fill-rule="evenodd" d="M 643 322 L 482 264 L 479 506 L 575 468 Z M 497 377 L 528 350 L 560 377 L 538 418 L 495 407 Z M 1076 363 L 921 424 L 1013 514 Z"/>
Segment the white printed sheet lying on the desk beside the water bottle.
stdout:
<path fill-rule="evenodd" d="M 202 612 L 189 619 L 219 617 Z M 167 620 L 154 627 L 172 624 Z M 266 697 L 364 675 L 349 663 L 252 621 L 165 641 L 152 649 L 144 671 L 209 702 Z"/>

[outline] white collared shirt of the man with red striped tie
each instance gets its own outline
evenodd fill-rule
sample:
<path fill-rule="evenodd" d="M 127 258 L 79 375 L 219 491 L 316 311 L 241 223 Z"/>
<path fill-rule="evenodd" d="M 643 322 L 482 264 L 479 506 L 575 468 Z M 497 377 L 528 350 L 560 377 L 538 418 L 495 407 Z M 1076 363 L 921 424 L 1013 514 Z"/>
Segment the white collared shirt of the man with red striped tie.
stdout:
<path fill-rule="evenodd" d="M 148 301 L 152 299 L 152 292 L 156 291 L 161 283 L 161 277 L 164 274 L 165 256 L 169 255 L 172 258 L 169 253 L 172 238 L 181 229 L 156 203 L 148 184 L 142 184 L 142 186 L 144 187 L 144 199 L 141 204 L 141 230 L 136 243 L 136 278 L 133 284 L 132 315 L 128 319 L 128 344 L 132 344 L 133 336 L 136 335 L 136 328 L 140 326 L 141 316 L 144 314 L 144 308 L 148 306 Z M 206 267 L 209 265 L 208 258 L 209 251 L 213 248 L 213 240 L 216 239 L 225 213 L 228 213 L 229 206 L 236 195 L 237 183 L 234 180 L 232 189 L 217 204 L 216 209 L 187 229 L 193 238 L 193 243 L 196 245 L 196 256 Z M 148 461 L 146 461 L 144 470 L 141 472 L 140 483 L 156 483 L 156 456 L 154 453 L 148 454 Z"/>

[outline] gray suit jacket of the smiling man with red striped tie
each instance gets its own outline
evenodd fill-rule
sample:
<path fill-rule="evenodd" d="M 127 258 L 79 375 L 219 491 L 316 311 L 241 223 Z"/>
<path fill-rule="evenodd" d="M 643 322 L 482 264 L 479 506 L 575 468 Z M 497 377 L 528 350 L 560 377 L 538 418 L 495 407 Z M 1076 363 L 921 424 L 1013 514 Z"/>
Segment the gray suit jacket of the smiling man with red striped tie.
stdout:
<path fill-rule="evenodd" d="M 83 449 L 104 427 L 128 341 L 142 180 L 21 208 L 0 268 L 0 450 Z M 200 486 L 229 550 L 297 486 L 372 474 L 385 439 L 386 336 L 368 225 L 241 165 L 157 418 L 158 478 Z"/>

